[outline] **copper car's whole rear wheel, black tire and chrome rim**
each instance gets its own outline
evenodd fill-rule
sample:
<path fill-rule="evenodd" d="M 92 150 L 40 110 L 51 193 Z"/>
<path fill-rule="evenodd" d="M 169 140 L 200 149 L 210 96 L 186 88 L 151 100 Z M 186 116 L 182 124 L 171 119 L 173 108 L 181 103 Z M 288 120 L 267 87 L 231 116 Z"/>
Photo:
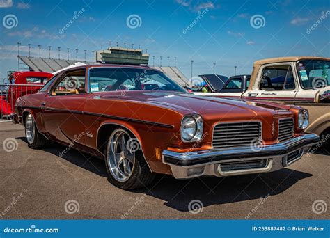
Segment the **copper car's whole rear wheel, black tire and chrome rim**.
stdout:
<path fill-rule="evenodd" d="M 48 145 L 49 141 L 47 140 L 47 138 L 45 138 L 45 136 L 42 136 L 42 134 L 38 132 L 38 129 L 36 127 L 36 121 L 30 113 L 28 114 L 28 116 L 26 116 L 24 125 L 25 138 L 29 148 L 41 149 Z"/>

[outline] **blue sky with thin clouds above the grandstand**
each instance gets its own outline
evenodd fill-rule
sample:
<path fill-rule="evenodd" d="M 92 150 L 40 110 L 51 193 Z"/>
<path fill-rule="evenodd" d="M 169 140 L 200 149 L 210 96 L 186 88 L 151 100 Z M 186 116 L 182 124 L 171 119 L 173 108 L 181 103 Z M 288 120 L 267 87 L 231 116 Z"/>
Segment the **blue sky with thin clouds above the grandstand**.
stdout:
<path fill-rule="evenodd" d="M 79 13 L 80 11 L 80 13 Z M 0 78 L 7 70 L 17 70 L 17 42 L 20 51 L 58 58 L 91 60 L 91 51 L 101 44 L 116 42 L 148 49 L 150 65 L 174 64 L 187 76 L 215 72 L 233 75 L 249 74 L 253 61 L 260 58 L 293 55 L 330 56 L 330 1 L 15 1 L 0 0 L 3 19 L 0 37 Z M 6 16 L 14 15 L 14 25 L 4 23 Z M 72 19 L 76 15 L 76 19 Z M 137 25 L 127 24 L 127 18 L 137 15 Z M 136 16 L 135 16 L 136 17 Z M 134 16 L 133 16 L 134 19 Z M 251 21 L 252 19 L 252 21 Z M 253 22 L 256 19 L 256 22 Z M 70 22 L 71 20 L 71 22 Z M 321 21 L 320 21 L 321 20 Z M 63 29 L 64 26 L 67 29 Z M 311 29 L 311 26 L 315 26 Z"/>

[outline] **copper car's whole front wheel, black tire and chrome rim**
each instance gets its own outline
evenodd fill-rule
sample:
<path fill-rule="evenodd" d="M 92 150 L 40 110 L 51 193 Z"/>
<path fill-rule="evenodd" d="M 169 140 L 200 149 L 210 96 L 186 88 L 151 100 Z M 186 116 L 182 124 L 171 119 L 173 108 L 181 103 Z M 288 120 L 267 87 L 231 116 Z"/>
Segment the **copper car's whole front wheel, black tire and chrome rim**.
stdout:
<path fill-rule="evenodd" d="M 155 178 L 141 152 L 139 141 L 126 129 L 115 129 L 109 136 L 105 164 L 111 184 L 120 189 L 147 187 Z"/>

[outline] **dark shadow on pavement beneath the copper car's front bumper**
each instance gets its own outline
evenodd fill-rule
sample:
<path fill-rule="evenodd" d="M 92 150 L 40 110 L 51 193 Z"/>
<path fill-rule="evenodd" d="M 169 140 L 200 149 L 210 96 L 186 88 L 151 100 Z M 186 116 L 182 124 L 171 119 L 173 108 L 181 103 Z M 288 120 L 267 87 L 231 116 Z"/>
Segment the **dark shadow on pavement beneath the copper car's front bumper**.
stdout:
<path fill-rule="evenodd" d="M 284 168 L 272 173 L 260 175 L 238 175 L 232 177 L 203 177 L 193 180 L 175 180 L 171 176 L 158 175 L 151 189 L 140 189 L 146 193 L 165 200 L 164 205 L 181 212 L 189 211 L 189 203 L 207 207 L 255 200 L 275 196 L 292 187 L 299 180 L 313 175 L 297 170 Z"/>

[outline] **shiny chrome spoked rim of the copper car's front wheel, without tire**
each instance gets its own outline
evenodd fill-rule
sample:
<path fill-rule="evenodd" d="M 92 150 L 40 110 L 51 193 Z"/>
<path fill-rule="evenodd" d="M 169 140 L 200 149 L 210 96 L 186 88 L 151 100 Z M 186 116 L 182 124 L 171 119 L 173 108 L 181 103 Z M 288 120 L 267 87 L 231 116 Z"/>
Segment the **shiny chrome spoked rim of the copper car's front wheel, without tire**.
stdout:
<path fill-rule="evenodd" d="M 128 180 L 134 168 L 135 152 L 129 150 L 129 141 L 132 138 L 124 129 L 116 129 L 109 138 L 107 162 L 111 175 L 119 182 Z"/>

